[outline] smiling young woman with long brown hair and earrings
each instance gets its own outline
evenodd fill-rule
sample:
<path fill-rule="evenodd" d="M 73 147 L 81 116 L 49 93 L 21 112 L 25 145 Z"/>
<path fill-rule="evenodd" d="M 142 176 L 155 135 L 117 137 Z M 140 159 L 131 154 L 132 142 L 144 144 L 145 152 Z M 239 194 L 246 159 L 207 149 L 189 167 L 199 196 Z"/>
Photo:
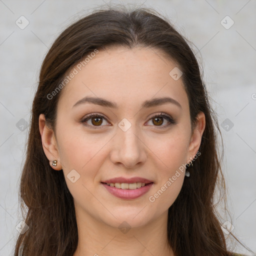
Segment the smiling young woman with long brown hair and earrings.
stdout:
<path fill-rule="evenodd" d="M 196 58 L 158 13 L 70 25 L 40 70 L 15 255 L 232 255 L 214 125 Z"/>

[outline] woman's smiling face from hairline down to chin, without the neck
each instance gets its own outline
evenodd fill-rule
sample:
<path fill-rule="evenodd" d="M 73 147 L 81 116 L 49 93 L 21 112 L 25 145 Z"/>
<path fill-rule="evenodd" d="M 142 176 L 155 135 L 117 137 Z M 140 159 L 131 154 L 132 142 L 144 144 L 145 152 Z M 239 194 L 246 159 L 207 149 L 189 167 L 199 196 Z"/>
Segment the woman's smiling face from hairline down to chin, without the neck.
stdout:
<path fill-rule="evenodd" d="M 184 179 L 177 170 L 196 154 L 204 127 L 191 133 L 182 80 L 169 75 L 174 67 L 157 49 L 107 48 L 76 67 L 61 90 L 54 146 L 44 151 L 58 159 L 80 215 L 137 227 L 176 199 Z M 102 183 L 119 177 L 135 179 L 122 188 Z"/>

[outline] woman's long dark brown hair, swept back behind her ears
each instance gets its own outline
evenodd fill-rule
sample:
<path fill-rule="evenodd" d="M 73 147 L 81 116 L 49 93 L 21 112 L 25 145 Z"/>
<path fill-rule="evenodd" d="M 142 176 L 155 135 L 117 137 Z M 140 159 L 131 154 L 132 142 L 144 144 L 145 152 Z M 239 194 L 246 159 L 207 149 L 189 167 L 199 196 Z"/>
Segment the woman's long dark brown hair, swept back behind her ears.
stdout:
<path fill-rule="evenodd" d="M 189 100 L 192 127 L 199 111 L 206 126 L 190 177 L 168 210 L 168 244 L 177 256 L 229 255 L 214 205 L 214 191 L 224 187 L 218 155 L 218 123 L 209 104 L 198 62 L 188 42 L 167 18 L 150 8 L 110 7 L 94 10 L 67 27 L 46 54 L 32 104 L 26 160 L 20 180 L 20 205 L 28 230 L 16 241 L 15 256 L 72 256 L 78 241 L 73 198 L 63 171 L 53 171 L 38 128 L 39 114 L 54 130 L 61 84 L 71 68 L 94 49 L 146 46 L 160 49 L 178 63 Z M 51 94 L 52 95 L 52 94 Z M 221 139 L 222 141 L 222 139 Z"/>

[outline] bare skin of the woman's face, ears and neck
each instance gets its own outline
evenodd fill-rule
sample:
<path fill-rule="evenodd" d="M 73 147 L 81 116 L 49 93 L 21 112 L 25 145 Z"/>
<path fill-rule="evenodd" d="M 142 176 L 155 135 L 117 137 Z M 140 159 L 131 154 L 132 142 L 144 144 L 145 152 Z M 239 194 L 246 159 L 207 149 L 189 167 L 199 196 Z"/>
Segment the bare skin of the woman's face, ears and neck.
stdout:
<path fill-rule="evenodd" d="M 166 242 L 167 212 L 181 189 L 184 172 L 154 202 L 148 198 L 196 154 L 205 128 L 205 116 L 200 112 L 191 132 L 182 80 L 169 75 L 175 66 L 157 49 L 100 50 L 61 90 L 55 132 L 40 114 L 45 155 L 54 170 L 63 170 L 74 198 L 78 228 L 74 256 L 174 255 Z M 73 107 L 84 96 L 114 101 L 118 108 L 91 103 Z M 144 100 L 165 96 L 178 101 L 181 108 L 173 103 L 140 107 Z M 161 112 L 176 123 L 166 126 L 169 122 L 162 118 L 158 126 L 151 118 Z M 93 118 L 81 122 L 89 113 L 105 117 L 100 119 L 100 128 L 93 128 Z M 131 124 L 126 131 L 118 127 L 123 118 Z M 55 167 L 51 165 L 54 159 L 58 161 Z M 80 175 L 74 183 L 67 178 L 72 169 Z M 139 176 L 154 183 L 136 199 L 121 199 L 100 183 L 118 176 Z M 126 233 L 118 228 L 123 221 L 131 227 Z"/>

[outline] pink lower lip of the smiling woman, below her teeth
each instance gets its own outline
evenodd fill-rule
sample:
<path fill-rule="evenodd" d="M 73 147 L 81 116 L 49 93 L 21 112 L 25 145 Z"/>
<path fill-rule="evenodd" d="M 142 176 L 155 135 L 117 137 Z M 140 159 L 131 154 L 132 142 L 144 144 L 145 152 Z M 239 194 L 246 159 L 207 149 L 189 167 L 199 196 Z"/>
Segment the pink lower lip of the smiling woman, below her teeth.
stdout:
<path fill-rule="evenodd" d="M 136 189 L 121 189 L 114 186 L 109 186 L 106 183 L 101 183 L 108 192 L 122 199 L 135 199 L 145 194 L 152 186 L 153 182 L 141 186 Z"/>

